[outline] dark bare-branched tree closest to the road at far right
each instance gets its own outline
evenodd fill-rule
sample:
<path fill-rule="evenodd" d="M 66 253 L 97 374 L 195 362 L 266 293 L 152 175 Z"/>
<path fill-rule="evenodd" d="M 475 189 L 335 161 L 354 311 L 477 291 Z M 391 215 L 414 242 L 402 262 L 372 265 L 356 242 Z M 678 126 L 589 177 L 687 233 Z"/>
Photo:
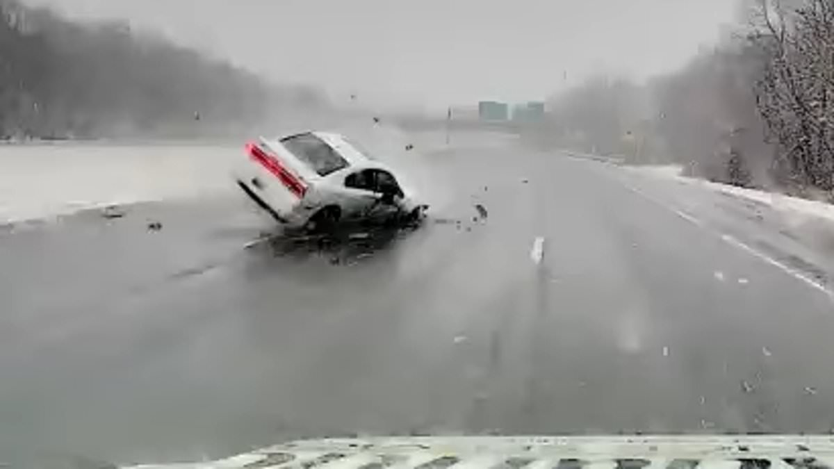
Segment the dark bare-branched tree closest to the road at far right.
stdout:
<path fill-rule="evenodd" d="M 759 0 L 751 43 L 764 66 L 756 103 L 776 144 L 778 174 L 794 189 L 834 189 L 834 4 Z"/>

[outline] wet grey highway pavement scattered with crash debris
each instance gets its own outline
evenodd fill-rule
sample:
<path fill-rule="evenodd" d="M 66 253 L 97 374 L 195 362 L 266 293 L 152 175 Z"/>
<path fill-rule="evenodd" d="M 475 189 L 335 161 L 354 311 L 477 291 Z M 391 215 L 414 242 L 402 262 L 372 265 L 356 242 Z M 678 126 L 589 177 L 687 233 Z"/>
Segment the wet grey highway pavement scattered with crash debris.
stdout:
<path fill-rule="evenodd" d="M 834 426 L 824 275 L 740 201 L 513 144 L 423 163 L 425 226 L 324 246 L 258 242 L 234 193 L 3 229 L 0 455 Z"/>

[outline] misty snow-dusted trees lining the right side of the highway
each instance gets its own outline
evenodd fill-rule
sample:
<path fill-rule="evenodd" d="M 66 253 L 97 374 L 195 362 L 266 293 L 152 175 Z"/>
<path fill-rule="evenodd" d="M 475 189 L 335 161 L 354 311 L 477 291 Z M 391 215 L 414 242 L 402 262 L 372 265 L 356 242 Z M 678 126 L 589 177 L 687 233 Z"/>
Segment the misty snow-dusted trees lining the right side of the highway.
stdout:
<path fill-rule="evenodd" d="M 742 0 L 743 22 L 685 68 L 599 77 L 550 100 L 558 144 L 692 175 L 834 194 L 834 3 Z"/>

